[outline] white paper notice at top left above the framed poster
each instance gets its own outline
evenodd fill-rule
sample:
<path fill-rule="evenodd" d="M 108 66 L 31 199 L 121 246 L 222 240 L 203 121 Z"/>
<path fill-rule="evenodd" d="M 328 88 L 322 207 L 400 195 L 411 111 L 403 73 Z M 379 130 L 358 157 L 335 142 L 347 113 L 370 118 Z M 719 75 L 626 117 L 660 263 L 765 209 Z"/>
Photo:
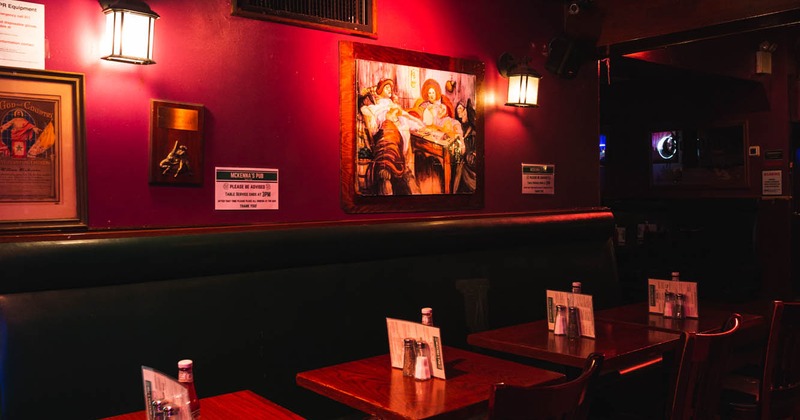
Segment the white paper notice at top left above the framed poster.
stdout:
<path fill-rule="evenodd" d="M 0 65 L 44 70 L 44 5 L 0 0 Z"/>

